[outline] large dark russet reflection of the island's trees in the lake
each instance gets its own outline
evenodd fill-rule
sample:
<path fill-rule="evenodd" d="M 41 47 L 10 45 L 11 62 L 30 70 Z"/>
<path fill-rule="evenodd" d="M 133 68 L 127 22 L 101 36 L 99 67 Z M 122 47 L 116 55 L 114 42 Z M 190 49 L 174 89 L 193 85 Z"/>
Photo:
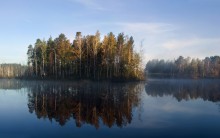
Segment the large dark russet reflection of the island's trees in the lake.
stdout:
<path fill-rule="evenodd" d="M 139 106 L 141 84 L 37 83 L 28 93 L 28 108 L 38 118 L 55 120 L 60 125 L 73 118 L 76 126 L 100 123 L 108 127 L 126 126 L 132 120 L 132 108 Z"/>

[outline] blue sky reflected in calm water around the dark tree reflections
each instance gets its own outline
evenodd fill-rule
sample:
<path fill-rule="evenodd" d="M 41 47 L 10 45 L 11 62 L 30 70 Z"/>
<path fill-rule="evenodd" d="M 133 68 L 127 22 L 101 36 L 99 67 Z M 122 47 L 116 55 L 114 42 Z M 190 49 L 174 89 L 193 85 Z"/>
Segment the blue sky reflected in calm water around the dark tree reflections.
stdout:
<path fill-rule="evenodd" d="M 100 121 L 97 130 L 91 124 L 77 128 L 73 118 L 64 126 L 54 119 L 38 119 L 35 113 L 29 113 L 27 93 L 26 88 L 0 89 L 0 137 L 220 136 L 219 105 L 202 98 L 178 101 L 169 94 L 154 97 L 142 90 L 139 105 L 133 106 L 130 124 L 108 128 Z"/>

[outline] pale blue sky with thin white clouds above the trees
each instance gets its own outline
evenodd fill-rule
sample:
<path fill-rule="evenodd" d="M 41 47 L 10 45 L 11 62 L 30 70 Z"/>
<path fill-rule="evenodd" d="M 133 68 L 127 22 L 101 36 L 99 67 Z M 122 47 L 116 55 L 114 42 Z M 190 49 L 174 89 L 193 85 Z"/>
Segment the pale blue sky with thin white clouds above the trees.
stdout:
<path fill-rule="evenodd" d="M 144 61 L 220 55 L 219 0 L 2 0 L 0 63 L 26 63 L 29 44 L 97 30 L 143 42 Z"/>

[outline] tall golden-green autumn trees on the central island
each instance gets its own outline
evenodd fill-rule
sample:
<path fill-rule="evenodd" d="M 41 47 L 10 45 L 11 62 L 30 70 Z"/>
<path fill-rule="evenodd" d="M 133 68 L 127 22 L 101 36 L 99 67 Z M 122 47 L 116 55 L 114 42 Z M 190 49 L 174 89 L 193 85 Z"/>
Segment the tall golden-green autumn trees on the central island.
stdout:
<path fill-rule="evenodd" d="M 28 46 L 28 74 L 32 77 L 79 79 L 143 79 L 140 54 L 133 37 L 120 33 L 82 36 L 71 43 L 64 34 Z"/>

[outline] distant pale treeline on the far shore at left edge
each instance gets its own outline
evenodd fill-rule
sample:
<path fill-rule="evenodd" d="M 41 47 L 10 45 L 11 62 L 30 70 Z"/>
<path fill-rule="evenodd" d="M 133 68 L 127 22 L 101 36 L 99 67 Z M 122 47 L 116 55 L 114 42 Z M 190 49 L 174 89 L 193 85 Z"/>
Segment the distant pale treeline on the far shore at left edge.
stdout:
<path fill-rule="evenodd" d="M 26 73 L 26 66 L 21 64 L 0 64 L 0 78 L 20 78 Z"/>

